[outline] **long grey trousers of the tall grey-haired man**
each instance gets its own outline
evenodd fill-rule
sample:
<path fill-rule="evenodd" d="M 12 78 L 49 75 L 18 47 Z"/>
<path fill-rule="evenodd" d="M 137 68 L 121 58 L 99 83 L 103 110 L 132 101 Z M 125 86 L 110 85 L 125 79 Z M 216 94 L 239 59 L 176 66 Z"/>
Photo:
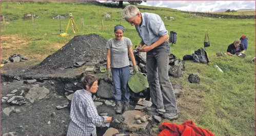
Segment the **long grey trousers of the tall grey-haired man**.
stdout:
<path fill-rule="evenodd" d="M 178 112 L 175 95 L 168 76 L 169 42 L 147 52 L 147 79 L 152 106 L 164 108 L 167 112 Z"/>

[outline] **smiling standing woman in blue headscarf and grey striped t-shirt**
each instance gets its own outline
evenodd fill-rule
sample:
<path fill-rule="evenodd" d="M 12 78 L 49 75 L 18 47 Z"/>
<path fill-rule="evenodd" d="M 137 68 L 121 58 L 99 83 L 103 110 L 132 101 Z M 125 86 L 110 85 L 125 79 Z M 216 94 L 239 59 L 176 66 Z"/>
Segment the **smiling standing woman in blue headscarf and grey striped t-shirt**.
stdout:
<path fill-rule="evenodd" d="M 128 80 L 130 78 L 129 58 L 133 64 L 134 74 L 139 72 L 135 63 L 135 58 L 132 52 L 131 40 L 123 37 L 125 28 L 122 25 L 114 27 L 115 37 L 107 41 L 107 75 L 108 78 L 113 76 L 114 84 L 114 99 L 116 103 L 115 112 L 122 112 L 122 92 L 124 93 L 124 111 L 128 110 L 130 102 L 130 90 L 128 88 Z M 111 64 L 111 69 L 110 69 Z M 121 91 L 122 90 L 122 91 Z"/>

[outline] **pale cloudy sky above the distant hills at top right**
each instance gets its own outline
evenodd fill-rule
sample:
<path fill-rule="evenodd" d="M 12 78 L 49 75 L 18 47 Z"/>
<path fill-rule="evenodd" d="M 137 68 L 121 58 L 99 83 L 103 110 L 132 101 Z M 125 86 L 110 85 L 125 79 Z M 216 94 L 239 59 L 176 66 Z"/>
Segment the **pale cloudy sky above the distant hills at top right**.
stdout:
<path fill-rule="evenodd" d="M 255 9 L 255 1 L 147 1 L 141 5 L 196 12 L 214 12 L 219 9 Z"/>

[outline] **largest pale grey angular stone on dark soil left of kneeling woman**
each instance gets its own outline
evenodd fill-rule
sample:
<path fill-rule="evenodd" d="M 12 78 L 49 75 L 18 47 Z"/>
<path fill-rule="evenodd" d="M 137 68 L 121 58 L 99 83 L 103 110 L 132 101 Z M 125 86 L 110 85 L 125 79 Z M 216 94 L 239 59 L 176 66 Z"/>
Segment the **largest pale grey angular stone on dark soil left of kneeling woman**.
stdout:
<path fill-rule="evenodd" d="M 27 93 L 25 98 L 33 103 L 35 100 L 44 99 L 49 93 L 50 90 L 47 89 L 45 86 L 40 87 L 40 85 L 36 84 L 29 89 L 29 92 Z"/>

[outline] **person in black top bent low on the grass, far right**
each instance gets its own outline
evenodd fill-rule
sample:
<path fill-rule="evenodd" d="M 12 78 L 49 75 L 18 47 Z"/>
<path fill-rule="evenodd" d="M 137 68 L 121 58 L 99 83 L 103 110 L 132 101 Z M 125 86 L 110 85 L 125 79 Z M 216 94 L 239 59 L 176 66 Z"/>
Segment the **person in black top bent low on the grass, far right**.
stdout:
<path fill-rule="evenodd" d="M 241 44 L 241 40 L 239 40 L 239 39 L 234 40 L 234 42 L 228 46 L 227 54 L 229 56 L 238 56 L 239 53 L 244 54 L 245 50 L 243 47 L 244 46 L 243 46 L 243 44 Z"/>

